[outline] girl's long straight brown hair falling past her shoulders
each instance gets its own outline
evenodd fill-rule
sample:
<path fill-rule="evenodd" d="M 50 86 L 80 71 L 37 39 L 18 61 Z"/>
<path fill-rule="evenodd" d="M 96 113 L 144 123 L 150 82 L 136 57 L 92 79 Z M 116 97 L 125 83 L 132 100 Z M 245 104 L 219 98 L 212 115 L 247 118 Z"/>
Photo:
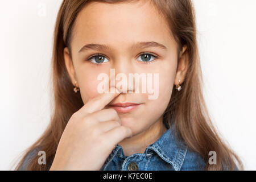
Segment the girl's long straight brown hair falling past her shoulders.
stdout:
<path fill-rule="evenodd" d="M 133 0 L 64 0 L 61 4 L 54 32 L 52 53 L 53 113 L 47 130 L 20 160 L 19 169 L 27 154 L 40 148 L 47 154 L 46 163 L 39 165 L 38 156 L 29 161 L 27 170 L 47 170 L 52 163 L 61 135 L 73 113 L 84 104 L 80 94 L 73 93 L 73 85 L 64 64 L 63 49 L 70 48 L 72 28 L 80 10 L 89 2 L 123 3 Z M 196 40 L 195 12 L 191 0 L 151 0 L 159 15 L 166 19 L 178 43 L 178 49 L 187 46 L 189 68 L 180 92 L 175 88 L 163 114 L 165 126 L 175 125 L 177 136 L 206 162 L 206 170 L 243 169 L 238 156 L 222 141 L 210 120 L 204 102 L 199 53 Z M 170 123 L 171 122 L 171 123 Z M 209 151 L 217 154 L 217 164 L 208 163 Z"/>

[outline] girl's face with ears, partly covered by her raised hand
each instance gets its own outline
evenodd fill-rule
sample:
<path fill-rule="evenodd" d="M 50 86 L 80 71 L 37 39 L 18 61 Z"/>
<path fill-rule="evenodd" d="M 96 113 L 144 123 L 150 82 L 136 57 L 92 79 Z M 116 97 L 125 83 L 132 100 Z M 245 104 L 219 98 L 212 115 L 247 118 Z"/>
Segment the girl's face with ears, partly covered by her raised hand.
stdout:
<path fill-rule="evenodd" d="M 141 104 L 128 113 L 118 113 L 122 125 L 130 127 L 134 135 L 162 118 L 174 84 L 179 84 L 179 80 L 181 84 L 187 71 L 183 52 L 178 55 L 170 28 L 150 1 L 88 4 L 76 18 L 71 52 L 72 60 L 68 49 L 64 49 L 65 64 L 73 84 L 77 81 L 84 103 L 100 94 L 97 88 L 102 80 L 97 78 L 101 73 L 109 76 L 109 88 L 113 86 L 110 84 L 113 79 L 110 69 L 114 69 L 115 76 L 118 73 L 127 76 L 127 93 L 119 94 L 110 104 Z M 139 93 L 134 93 L 134 89 L 129 93 L 129 73 L 151 73 L 155 99 L 148 99 L 153 95 L 148 93 L 148 89 L 146 93 L 141 89 Z M 154 74 L 157 73 L 158 85 L 154 82 Z M 118 82 L 115 80 L 115 86 Z M 142 80 L 139 84 L 140 88 L 145 86 Z"/>

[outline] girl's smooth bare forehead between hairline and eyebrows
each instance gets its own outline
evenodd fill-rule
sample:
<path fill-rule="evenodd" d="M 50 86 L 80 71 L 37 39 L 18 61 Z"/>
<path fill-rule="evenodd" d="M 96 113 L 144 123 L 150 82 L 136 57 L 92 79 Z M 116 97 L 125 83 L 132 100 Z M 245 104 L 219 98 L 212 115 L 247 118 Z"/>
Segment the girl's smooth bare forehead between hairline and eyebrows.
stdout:
<path fill-rule="evenodd" d="M 73 28 L 72 42 L 77 49 L 85 43 L 123 47 L 149 41 L 166 46 L 174 41 L 166 20 L 150 1 L 91 2 L 80 11 Z"/>

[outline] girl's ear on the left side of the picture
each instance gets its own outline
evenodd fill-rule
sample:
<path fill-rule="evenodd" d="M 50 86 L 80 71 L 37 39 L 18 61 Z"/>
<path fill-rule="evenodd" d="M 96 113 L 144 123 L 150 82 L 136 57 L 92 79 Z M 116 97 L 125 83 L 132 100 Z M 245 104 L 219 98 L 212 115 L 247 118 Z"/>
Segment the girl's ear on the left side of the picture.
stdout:
<path fill-rule="evenodd" d="M 76 72 L 75 72 L 75 68 L 73 66 L 73 61 L 71 59 L 71 55 L 70 55 L 67 47 L 64 48 L 63 53 L 64 53 L 65 66 L 67 68 L 68 75 L 71 78 L 72 84 L 79 87 L 78 83 L 75 84 L 75 82 L 77 81 Z"/>

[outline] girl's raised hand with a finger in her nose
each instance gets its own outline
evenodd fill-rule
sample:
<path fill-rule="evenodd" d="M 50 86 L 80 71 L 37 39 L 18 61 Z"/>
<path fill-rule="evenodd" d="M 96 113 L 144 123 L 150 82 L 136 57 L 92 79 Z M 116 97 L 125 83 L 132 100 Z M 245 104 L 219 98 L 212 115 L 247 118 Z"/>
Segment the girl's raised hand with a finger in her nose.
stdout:
<path fill-rule="evenodd" d="M 50 170 L 100 170 L 117 143 L 132 136 L 117 111 L 104 109 L 119 94 L 100 94 L 72 115 Z"/>

